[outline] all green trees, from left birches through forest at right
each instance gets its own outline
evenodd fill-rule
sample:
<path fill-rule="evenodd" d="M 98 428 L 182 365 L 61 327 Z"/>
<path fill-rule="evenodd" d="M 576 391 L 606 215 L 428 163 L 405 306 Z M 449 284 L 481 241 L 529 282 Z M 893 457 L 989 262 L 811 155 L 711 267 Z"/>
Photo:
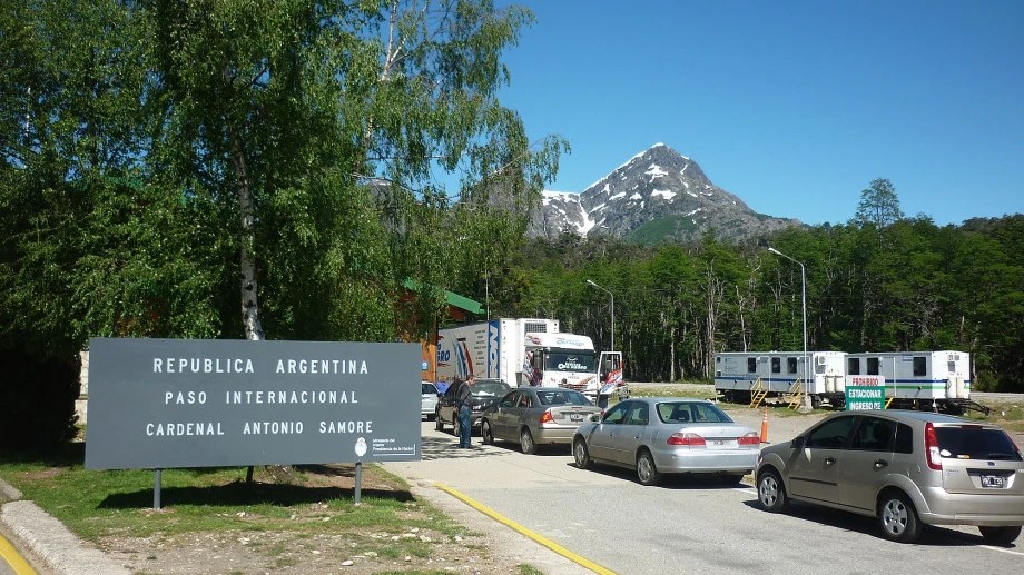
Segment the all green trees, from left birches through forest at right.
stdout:
<path fill-rule="evenodd" d="M 46 381 L 89 337 L 391 341 L 441 319 L 444 289 L 607 346 L 592 279 L 634 380 L 799 348 L 799 266 L 764 242 L 524 239 L 569 149 L 498 99 L 532 19 L 492 0 L 0 2 L 4 416 L 73 398 Z M 764 241 L 806 266 L 809 347 L 962 349 L 982 387 L 1024 390 L 1020 216 L 937 227 L 876 180 L 849 224 Z"/>

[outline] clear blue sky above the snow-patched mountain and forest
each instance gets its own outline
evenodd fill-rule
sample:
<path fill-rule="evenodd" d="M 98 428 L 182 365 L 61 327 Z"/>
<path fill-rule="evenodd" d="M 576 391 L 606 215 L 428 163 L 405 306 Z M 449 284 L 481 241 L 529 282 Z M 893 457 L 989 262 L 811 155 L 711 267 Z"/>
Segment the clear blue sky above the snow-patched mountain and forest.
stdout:
<path fill-rule="evenodd" d="M 663 142 L 752 209 L 938 225 L 1024 212 L 1024 0 L 533 0 L 501 99 L 582 191 Z"/>

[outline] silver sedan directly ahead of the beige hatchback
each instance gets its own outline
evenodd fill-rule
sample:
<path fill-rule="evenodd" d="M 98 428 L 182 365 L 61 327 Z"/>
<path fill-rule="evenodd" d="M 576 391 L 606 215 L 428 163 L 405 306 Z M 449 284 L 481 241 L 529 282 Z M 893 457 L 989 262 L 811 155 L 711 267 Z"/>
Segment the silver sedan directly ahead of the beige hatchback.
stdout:
<path fill-rule="evenodd" d="M 643 485 L 664 474 L 718 474 L 738 482 L 757 464 L 760 436 L 715 404 L 678 397 L 627 399 L 593 416 L 573 436 L 577 466 L 637 470 Z"/>

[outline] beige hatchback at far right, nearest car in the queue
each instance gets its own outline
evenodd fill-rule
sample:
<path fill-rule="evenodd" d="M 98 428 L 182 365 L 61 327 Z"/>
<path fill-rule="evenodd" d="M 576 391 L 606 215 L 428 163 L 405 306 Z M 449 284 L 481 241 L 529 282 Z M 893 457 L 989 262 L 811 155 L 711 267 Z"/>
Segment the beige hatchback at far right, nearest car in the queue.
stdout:
<path fill-rule="evenodd" d="M 925 412 L 833 414 L 758 459 L 758 499 L 877 518 L 882 534 L 914 542 L 922 525 L 975 525 L 1008 544 L 1024 525 L 1024 459 L 997 426 Z"/>

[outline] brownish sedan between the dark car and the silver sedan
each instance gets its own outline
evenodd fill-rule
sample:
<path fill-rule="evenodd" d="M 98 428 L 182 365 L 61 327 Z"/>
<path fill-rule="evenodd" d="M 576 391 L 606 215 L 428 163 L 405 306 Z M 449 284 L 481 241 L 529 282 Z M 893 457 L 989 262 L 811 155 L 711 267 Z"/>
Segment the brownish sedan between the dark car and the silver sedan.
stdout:
<path fill-rule="evenodd" d="M 483 443 L 519 442 L 524 454 L 541 445 L 570 445 L 577 427 L 600 414 L 585 395 L 563 387 L 522 387 L 505 394 L 481 417 Z"/>

